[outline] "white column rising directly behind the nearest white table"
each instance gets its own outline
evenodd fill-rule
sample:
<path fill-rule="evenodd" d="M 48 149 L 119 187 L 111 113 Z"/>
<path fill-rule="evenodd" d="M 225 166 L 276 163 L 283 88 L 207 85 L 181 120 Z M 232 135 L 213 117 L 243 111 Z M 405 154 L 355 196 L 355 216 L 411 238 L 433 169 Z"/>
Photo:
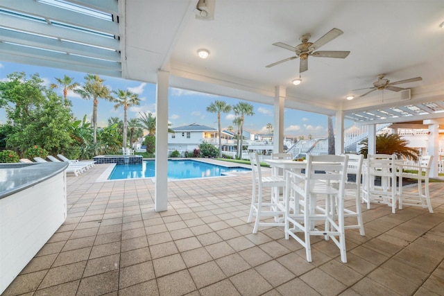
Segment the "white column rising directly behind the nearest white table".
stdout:
<path fill-rule="evenodd" d="M 277 86 L 274 99 L 273 153 L 284 152 L 284 103 L 285 87 Z"/>

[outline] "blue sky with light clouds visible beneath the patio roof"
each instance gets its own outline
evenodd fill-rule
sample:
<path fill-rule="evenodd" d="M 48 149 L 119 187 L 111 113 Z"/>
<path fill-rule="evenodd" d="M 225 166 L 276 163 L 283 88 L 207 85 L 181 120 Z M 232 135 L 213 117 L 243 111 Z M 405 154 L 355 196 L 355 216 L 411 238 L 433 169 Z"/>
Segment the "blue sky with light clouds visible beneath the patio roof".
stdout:
<path fill-rule="evenodd" d="M 28 64 L 16 64 L 0 61 L 0 80 L 6 80 L 6 76 L 12 72 L 24 71 L 27 76 L 39 73 L 40 78 L 44 80 L 45 85 L 55 83 L 55 78 L 63 78 L 67 75 L 74 78 L 74 81 L 80 85 L 83 84 L 87 73 L 67 71 L 64 69 L 55 69 L 47 67 L 37 67 Z M 146 82 L 125 80 L 121 78 L 101 76 L 105 80 L 104 84 L 111 90 L 129 89 L 139 95 L 141 104 L 139 106 L 128 108 L 128 119 L 139 117 L 139 112 L 151 112 L 155 114 L 155 85 Z M 62 89 L 56 89 L 56 92 L 62 96 Z M 74 116 L 82 119 L 86 114 L 87 119 L 91 119 L 92 101 L 83 100 L 78 94 L 69 92 L 68 98 L 72 102 L 72 111 Z M 223 96 L 214 96 L 199 92 L 191 92 L 185 89 L 170 88 L 169 91 L 169 121 L 171 127 L 186 125 L 189 123 L 200 123 L 203 125 L 217 128 L 217 115 L 206 111 L 208 105 L 215 100 L 225 101 L 230 105 L 239 103 L 239 99 L 227 98 Z M 273 125 L 273 106 L 260 103 L 249 102 L 254 107 L 254 116 L 246 116 L 244 129 L 250 132 L 267 133 L 266 124 Z M 114 110 L 114 104 L 107 101 L 99 101 L 98 124 L 105 126 L 109 117 L 119 117 L 123 119 L 123 107 Z M 221 126 L 227 128 L 234 119 L 234 113 L 222 114 Z M 6 115 L 3 109 L 0 109 L 0 123 L 5 123 Z M 235 128 L 235 127 L 234 127 Z M 291 137 L 305 136 L 311 134 L 313 137 L 327 136 L 327 116 L 303 112 L 299 110 L 285 109 L 284 114 L 284 134 Z"/>

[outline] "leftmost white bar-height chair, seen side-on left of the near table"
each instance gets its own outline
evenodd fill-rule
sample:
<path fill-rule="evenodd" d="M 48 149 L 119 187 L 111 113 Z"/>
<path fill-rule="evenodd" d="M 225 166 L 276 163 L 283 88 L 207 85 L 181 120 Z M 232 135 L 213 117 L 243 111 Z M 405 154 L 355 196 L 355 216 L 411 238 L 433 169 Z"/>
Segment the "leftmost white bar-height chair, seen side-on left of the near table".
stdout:
<path fill-rule="evenodd" d="M 284 226 L 284 222 L 281 221 L 284 217 L 284 208 L 282 207 L 282 204 L 274 202 L 279 200 L 279 198 L 273 196 L 279 194 L 278 190 L 273 189 L 285 186 L 284 178 L 279 176 L 263 176 L 259 164 L 259 156 L 256 153 L 250 153 L 250 161 L 251 170 L 253 171 L 253 191 L 251 194 L 250 214 L 248 215 L 247 222 L 250 223 L 253 216 L 255 216 L 253 234 L 257 233 L 257 227 L 259 226 Z M 262 201 L 262 189 L 265 187 L 271 188 L 271 199 L 269 202 Z M 264 207 L 267 207 L 268 209 L 264 210 Z M 275 220 L 273 222 L 261 221 L 261 219 L 267 217 L 274 217 Z"/>

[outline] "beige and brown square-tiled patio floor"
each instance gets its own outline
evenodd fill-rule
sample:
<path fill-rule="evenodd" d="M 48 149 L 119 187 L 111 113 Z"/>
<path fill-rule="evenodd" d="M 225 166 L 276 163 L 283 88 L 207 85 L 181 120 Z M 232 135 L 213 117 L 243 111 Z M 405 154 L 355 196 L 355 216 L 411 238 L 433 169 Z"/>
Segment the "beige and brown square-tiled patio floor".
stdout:
<path fill-rule="evenodd" d="M 308 263 L 279 227 L 251 233 L 250 173 L 169 182 L 156 213 L 151 180 L 96 182 L 107 167 L 69 175 L 67 220 L 3 295 L 444 295 L 444 183 L 434 214 L 373 204 L 348 263 L 323 240 Z"/>

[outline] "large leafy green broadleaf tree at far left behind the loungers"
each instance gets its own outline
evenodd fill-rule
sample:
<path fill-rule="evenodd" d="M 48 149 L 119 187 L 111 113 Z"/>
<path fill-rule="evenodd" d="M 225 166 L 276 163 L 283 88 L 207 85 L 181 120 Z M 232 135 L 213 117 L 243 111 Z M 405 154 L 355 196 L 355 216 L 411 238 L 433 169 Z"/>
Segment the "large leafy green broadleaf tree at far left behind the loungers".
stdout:
<path fill-rule="evenodd" d="M 11 73 L 8 81 L 0 82 L 0 93 L 8 118 L 6 146 L 24 151 L 38 145 L 50 153 L 69 146 L 71 111 L 62 97 L 42 85 L 36 73 Z"/>

